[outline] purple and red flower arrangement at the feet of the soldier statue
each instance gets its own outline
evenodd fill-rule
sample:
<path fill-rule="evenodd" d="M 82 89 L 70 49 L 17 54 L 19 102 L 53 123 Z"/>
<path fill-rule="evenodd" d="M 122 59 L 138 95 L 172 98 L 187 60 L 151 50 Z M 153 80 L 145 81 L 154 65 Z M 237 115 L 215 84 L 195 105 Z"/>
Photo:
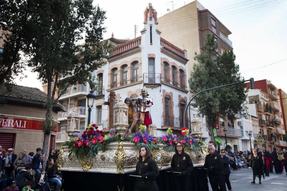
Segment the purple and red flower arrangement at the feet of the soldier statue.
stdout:
<path fill-rule="evenodd" d="M 158 146 L 157 139 L 154 139 L 152 135 L 148 134 L 145 125 L 140 125 L 139 131 L 129 137 L 126 137 L 126 139 L 132 143 L 135 143 L 138 148 L 146 145 L 152 150 L 154 147 Z"/>

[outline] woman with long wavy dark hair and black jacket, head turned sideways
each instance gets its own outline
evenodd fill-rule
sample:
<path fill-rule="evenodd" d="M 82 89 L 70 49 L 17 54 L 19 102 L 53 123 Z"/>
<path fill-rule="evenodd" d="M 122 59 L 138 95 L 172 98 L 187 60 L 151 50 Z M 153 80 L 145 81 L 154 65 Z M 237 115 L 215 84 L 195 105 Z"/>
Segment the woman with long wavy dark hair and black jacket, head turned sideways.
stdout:
<path fill-rule="evenodd" d="M 158 165 L 152 159 L 152 152 L 147 146 L 139 149 L 139 162 L 135 166 L 136 173 L 141 178 L 137 178 L 134 191 L 158 191 L 156 177 L 159 174 Z"/>

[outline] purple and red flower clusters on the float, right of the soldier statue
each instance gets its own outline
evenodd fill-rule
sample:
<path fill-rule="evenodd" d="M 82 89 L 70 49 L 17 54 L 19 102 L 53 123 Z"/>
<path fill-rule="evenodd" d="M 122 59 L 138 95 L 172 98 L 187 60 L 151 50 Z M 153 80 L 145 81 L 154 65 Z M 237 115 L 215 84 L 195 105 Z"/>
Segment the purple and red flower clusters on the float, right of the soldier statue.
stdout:
<path fill-rule="evenodd" d="M 200 150 L 202 153 L 201 145 L 204 145 L 203 141 L 197 140 L 192 137 L 189 130 L 185 130 L 185 136 L 180 137 L 174 135 L 170 127 L 166 130 L 166 135 L 162 135 L 157 138 L 158 143 L 162 143 L 164 145 L 164 149 L 169 152 L 173 152 L 176 144 L 180 141 L 183 145 L 192 150 Z"/>

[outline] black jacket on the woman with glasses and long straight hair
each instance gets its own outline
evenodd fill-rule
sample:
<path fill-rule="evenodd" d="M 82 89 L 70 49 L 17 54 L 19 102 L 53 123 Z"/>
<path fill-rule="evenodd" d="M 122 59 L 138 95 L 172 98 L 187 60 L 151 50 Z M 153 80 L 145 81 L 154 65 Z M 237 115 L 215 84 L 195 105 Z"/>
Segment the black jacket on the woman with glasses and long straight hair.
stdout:
<path fill-rule="evenodd" d="M 179 167 L 177 166 L 178 163 Z M 187 153 L 173 155 L 170 166 L 171 170 L 173 170 L 174 172 L 186 172 L 186 174 L 190 174 L 193 170 L 191 158 Z"/>

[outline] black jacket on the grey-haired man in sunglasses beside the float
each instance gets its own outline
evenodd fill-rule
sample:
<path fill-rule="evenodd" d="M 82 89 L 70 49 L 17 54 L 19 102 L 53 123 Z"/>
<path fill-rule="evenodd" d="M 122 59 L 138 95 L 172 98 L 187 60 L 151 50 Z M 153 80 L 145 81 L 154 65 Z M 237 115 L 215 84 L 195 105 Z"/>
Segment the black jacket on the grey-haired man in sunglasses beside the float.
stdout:
<path fill-rule="evenodd" d="M 205 157 L 204 168 L 211 167 L 211 170 L 207 170 L 208 175 L 217 175 L 223 172 L 223 161 L 219 154 L 214 153 L 214 155 L 208 154 Z"/>

